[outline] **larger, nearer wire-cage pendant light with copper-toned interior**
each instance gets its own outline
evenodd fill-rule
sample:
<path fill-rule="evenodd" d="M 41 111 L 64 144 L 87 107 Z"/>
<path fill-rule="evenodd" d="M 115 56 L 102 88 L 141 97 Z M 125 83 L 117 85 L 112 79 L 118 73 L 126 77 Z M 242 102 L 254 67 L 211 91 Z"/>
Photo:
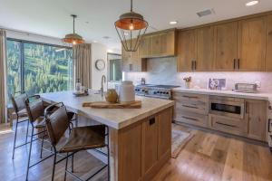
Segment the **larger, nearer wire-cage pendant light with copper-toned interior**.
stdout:
<path fill-rule="evenodd" d="M 116 31 L 126 52 L 137 51 L 141 36 L 146 32 L 149 26 L 143 19 L 143 16 L 133 12 L 132 8 L 131 0 L 131 12 L 121 14 L 119 20 L 115 22 Z"/>

